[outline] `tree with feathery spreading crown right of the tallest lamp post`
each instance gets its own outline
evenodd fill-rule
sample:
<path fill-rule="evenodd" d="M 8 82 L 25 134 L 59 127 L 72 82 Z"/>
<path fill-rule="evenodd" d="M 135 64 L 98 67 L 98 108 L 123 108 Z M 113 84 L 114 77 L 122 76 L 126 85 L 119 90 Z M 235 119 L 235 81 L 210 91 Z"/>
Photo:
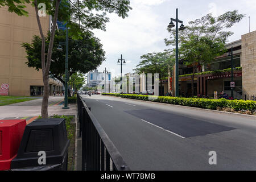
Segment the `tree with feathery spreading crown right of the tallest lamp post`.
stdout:
<path fill-rule="evenodd" d="M 191 76 L 191 90 L 194 95 L 194 77 L 197 64 L 207 64 L 213 61 L 214 57 L 222 55 L 226 50 L 225 43 L 233 32 L 226 29 L 240 22 L 244 17 L 238 14 L 237 10 L 228 11 L 218 17 L 212 14 L 203 16 L 200 19 L 191 21 L 184 31 L 179 32 L 179 55 L 186 64 L 192 64 L 193 74 Z M 175 45 L 175 30 L 167 28 L 170 38 L 165 39 L 166 46 Z"/>

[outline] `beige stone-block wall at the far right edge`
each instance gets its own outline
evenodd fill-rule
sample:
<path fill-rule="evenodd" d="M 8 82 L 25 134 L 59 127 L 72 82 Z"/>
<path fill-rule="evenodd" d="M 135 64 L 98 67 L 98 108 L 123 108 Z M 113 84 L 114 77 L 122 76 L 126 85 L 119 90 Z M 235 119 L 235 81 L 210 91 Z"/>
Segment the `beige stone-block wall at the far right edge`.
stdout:
<path fill-rule="evenodd" d="M 242 90 L 256 94 L 256 31 L 242 35 Z"/>

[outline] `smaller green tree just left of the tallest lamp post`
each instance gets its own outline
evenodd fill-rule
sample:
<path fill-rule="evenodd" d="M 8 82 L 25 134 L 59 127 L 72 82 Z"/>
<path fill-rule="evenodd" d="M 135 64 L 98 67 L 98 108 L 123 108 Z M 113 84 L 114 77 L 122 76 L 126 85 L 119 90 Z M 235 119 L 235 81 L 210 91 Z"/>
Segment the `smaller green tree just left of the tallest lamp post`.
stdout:
<path fill-rule="evenodd" d="M 141 73 L 159 73 L 161 87 L 163 87 L 163 78 L 168 76 L 168 68 L 174 65 L 173 51 L 168 49 L 163 52 L 147 53 L 141 56 L 142 61 L 136 66 L 134 71 Z M 172 69 L 171 69 L 172 70 Z M 162 92 L 162 91 L 160 91 Z M 160 93 L 162 95 L 163 93 Z"/>

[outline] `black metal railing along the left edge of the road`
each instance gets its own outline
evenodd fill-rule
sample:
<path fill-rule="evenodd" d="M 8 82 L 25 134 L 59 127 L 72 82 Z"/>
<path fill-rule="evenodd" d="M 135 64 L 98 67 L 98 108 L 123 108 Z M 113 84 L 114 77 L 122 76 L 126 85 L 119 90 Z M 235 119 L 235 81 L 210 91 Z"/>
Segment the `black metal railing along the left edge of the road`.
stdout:
<path fill-rule="evenodd" d="M 102 129 L 100 123 L 77 94 L 77 110 L 82 137 L 82 170 L 129 171 L 121 154 Z"/>

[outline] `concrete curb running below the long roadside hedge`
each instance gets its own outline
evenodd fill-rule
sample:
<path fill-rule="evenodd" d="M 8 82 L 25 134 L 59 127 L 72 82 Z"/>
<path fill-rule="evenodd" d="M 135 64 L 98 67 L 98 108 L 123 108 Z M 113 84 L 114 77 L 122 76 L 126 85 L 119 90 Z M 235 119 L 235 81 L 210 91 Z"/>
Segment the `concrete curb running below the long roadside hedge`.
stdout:
<path fill-rule="evenodd" d="M 110 97 L 116 97 L 116 96 L 110 96 Z M 142 101 L 142 102 L 147 102 L 147 103 L 151 103 L 151 104 L 155 103 L 155 104 L 160 104 L 160 105 L 183 107 L 184 109 L 202 110 L 202 111 L 208 111 L 209 113 L 222 113 L 222 114 L 229 114 L 229 115 L 237 115 L 237 116 L 240 116 L 240 117 L 243 117 L 243 118 L 256 119 L 256 115 L 231 113 L 231 112 L 226 112 L 226 111 L 221 111 L 221 110 L 203 109 L 203 108 L 199 108 L 199 107 L 181 106 L 181 105 L 167 104 L 167 103 L 162 103 L 162 102 L 143 101 L 143 100 L 137 100 L 137 99 L 133 99 L 133 98 L 123 98 L 123 97 L 118 97 L 118 98 L 122 98 L 122 99 L 126 99 L 126 100 L 132 100 L 132 101 Z"/>

